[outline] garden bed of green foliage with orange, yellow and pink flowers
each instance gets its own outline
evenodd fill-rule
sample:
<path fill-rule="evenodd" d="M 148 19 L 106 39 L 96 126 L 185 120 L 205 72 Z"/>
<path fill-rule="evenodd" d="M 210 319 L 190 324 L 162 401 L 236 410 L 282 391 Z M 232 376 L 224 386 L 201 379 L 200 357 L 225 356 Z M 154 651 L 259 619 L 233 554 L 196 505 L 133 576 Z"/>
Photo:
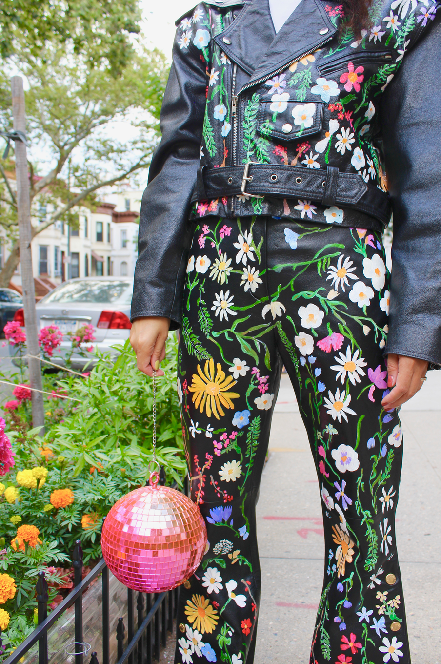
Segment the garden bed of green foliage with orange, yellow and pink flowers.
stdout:
<path fill-rule="evenodd" d="M 9 326 L 7 339 L 15 345 L 17 358 L 23 357 L 23 329 Z M 121 495 L 147 479 L 152 381 L 137 371 L 129 342 L 116 346 L 119 355 L 112 359 L 92 356 L 83 346 L 90 337 L 90 331 L 80 329 L 72 338 L 76 353 L 80 348 L 86 357 L 94 357 L 90 373 L 44 373 L 44 436 L 32 429 L 25 363 L 13 374 L 2 374 L 15 383 L 15 399 L 4 404 L 5 417 L 0 418 L 0 627 L 7 653 L 34 629 L 38 572 L 45 572 L 48 604 L 54 608 L 72 588 L 75 541 L 82 541 L 84 564 L 101 558 L 103 518 Z M 59 339 L 56 328 L 42 330 L 43 357 L 56 357 Z M 174 337 L 167 351 L 165 376 L 158 380 L 157 459 L 167 483 L 182 485 L 186 463 Z"/>

